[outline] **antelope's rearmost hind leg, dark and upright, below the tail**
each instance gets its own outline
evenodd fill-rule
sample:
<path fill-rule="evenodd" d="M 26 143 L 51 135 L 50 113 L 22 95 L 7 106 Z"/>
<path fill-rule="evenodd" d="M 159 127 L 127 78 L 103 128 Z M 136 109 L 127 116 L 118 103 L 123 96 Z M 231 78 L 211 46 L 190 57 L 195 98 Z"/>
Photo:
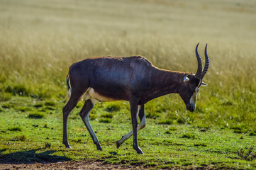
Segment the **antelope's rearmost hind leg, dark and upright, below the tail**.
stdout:
<path fill-rule="evenodd" d="M 67 140 L 67 120 L 69 118 L 70 112 L 73 110 L 75 106 L 77 106 L 77 103 L 79 101 L 81 95 L 75 95 L 74 93 L 71 94 L 69 101 L 62 109 L 63 113 L 63 140 L 62 143 L 65 145 L 66 148 L 72 148 L 69 145 L 69 142 Z"/>

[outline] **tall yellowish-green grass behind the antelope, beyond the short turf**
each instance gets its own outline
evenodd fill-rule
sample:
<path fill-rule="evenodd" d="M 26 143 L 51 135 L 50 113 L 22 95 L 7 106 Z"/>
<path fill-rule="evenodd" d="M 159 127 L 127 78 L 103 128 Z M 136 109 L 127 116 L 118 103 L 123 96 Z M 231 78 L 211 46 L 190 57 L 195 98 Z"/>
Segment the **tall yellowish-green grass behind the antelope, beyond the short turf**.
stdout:
<path fill-rule="evenodd" d="M 196 113 L 184 111 L 176 95 L 151 102 L 147 111 L 159 110 L 158 118 L 169 115 L 174 123 L 250 127 L 256 120 L 255 7 L 249 0 L 2 0 L 0 100 L 63 98 L 69 65 L 87 57 L 143 55 L 157 67 L 195 72 L 201 42 L 199 53 L 204 57 L 208 43 L 211 65 Z"/>

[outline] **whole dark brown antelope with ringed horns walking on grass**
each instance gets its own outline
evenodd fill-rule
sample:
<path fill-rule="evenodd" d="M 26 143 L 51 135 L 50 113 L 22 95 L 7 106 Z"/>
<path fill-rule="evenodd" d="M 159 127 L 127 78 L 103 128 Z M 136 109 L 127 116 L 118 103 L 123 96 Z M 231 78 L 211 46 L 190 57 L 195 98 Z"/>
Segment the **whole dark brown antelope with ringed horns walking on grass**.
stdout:
<path fill-rule="evenodd" d="M 173 72 L 159 69 L 145 57 L 91 57 L 76 62 L 69 67 L 67 74 L 67 103 L 63 112 L 63 141 L 66 148 L 72 148 L 67 140 L 67 120 L 69 113 L 84 99 L 84 106 L 79 112 L 87 127 L 96 148 L 102 150 L 99 140 L 91 128 L 89 113 L 96 101 L 128 101 L 133 130 L 116 142 L 120 147 L 133 135 L 133 149 L 138 154 L 144 154 L 138 146 L 137 131 L 145 128 L 145 103 L 166 94 L 179 94 L 187 110 L 194 112 L 196 94 L 199 87 L 206 86 L 202 80 L 209 67 L 207 44 L 205 47 L 205 65 L 202 69 L 201 57 L 196 45 L 196 74 Z M 138 118 L 140 124 L 138 125 Z"/>

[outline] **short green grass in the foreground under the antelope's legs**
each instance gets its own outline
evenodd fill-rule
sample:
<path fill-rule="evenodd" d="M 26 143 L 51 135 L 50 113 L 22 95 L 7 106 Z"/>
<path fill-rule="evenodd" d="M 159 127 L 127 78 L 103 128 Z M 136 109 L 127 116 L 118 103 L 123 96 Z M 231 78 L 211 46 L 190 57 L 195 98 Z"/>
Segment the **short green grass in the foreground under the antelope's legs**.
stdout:
<path fill-rule="evenodd" d="M 101 118 L 104 118 L 101 116 L 106 114 L 105 104 L 97 103 L 94 108 L 94 115 L 99 120 L 91 120 L 91 125 L 104 149 L 102 152 L 96 149 L 89 132 L 79 118 L 78 113 L 81 108 L 75 108 L 69 117 L 68 135 L 73 149 L 65 149 L 62 145 L 63 103 L 54 101 L 55 110 L 45 109 L 47 116 L 43 119 L 28 118 L 30 112 L 33 113 L 38 109 L 33 105 L 41 102 L 28 97 L 13 97 L 6 102 L 15 106 L 30 106 L 31 111 L 17 112 L 16 108 L 2 108 L 0 162 L 26 164 L 87 159 L 106 164 L 131 164 L 154 169 L 210 166 L 216 169 L 255 169 L 256 167 L 255 149 L 251 149 L 251 152 L 249 150 L 255 145 L 256 136 L 250 135 L 250 130 L 237 133 L 234 128 L 227 126 L 178 123 L 169 125 L 160 124 L 160 120 L 157 119 L 148 119 L 146 128 L 138 132 L 138 143 L 145 156 L 136 154 L 133 150 L 132 138 L 116 149 L 116 141 L 132 128 L 128 103 L 123 102 L 117 102 L 120 113 L 113 112 L 111 113 L 114 115 L 113 118 L 106 118 L 111 120 L 109 123 L 101 122 Z M 22 130 L 12 130 L 17 127 L 22 127 Z M 248 154 L 249 152 L 251 154 Z"/>

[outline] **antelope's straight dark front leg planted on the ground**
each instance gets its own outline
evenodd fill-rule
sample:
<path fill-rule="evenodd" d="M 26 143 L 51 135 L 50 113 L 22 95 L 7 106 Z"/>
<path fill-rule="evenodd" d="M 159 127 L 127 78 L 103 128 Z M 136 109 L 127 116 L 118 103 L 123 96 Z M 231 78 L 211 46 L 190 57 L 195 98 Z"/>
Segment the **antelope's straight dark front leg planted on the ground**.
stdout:
<path fill-rule="evenodd" d="M 138 102 L 134 99 L 130 100 L 130 114 L 132 117 L 132 124 L 133 124 L 133 149 L 137 151 L 138 154 L 144 154 L 143 151 L 138 146 L 137 141 L 137 126 L 138 126 Z"/>

